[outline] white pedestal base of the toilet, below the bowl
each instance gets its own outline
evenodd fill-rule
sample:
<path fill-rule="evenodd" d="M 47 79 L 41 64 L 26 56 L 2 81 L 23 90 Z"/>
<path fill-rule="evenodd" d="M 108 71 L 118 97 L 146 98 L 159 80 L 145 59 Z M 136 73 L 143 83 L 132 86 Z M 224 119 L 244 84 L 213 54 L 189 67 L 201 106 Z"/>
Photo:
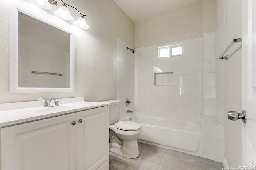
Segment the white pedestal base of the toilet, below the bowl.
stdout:
<path fill-rule="evenodd" d="M 112 147 L 109 151 L 125 158 L 137 158 L 140 155 L 137 139 L 134 141 L 123 141 L 122 149 Z"/>

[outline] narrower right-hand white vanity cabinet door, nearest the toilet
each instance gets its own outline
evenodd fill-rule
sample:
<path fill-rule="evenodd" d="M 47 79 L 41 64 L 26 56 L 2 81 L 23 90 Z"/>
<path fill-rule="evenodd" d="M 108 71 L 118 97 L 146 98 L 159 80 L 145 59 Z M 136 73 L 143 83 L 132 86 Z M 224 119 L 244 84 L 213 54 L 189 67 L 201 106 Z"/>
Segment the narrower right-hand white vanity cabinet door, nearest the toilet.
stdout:
<path fill-rule="evenodd" d="M 77 112 L 76 122 L 76 170 L 96 170 L 109 159 L 108 106 Z"/>

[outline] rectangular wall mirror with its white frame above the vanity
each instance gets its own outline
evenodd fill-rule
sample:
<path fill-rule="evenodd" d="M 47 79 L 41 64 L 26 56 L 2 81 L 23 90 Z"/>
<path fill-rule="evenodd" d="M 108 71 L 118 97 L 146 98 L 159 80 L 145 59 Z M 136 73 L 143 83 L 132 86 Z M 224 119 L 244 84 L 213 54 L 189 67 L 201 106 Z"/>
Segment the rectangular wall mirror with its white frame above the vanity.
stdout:
<path fill-rule="evenodd" d="M 10 93 L 74 91 L 72 32 L 24 8 L 11 10 Z"/>

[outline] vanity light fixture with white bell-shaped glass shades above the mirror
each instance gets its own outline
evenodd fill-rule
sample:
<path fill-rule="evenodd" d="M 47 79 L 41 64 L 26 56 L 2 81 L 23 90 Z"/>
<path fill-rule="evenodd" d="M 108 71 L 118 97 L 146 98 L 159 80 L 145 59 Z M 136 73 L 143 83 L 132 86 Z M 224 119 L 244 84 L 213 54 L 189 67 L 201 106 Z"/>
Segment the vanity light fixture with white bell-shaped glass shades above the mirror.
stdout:
<path fill-rule="evenodd" d="M 51 9 L 52 6 L 57 6 L 57 0 L 29 0 L 32 4 L 40 7 L 40 8 L 44 8 L 44 9 Z M 77 21 L 74 23 L 74 25 L 78 28 L 82 28 L 82 29 L 88 29 L 89 25 L 86 23 L 86 20 L 84 19 L 84 14 L 82 14 L 81 12 L 79 12 L 74 6 L 68 5 L 65 2 L 63 2 L 63 0 L 60 0 L 62 2 L 62 6 L 59 7 L 58 10 L 54 11 L 54 14 L 63 19 L 63 20 L 73 20 L 73 17 L 70 15 L 70 12 L 68 10 L 67 6 L 70 6 L 72 8 L 74 8 L 79 14 L 80 16 L 78 17 Z"/>

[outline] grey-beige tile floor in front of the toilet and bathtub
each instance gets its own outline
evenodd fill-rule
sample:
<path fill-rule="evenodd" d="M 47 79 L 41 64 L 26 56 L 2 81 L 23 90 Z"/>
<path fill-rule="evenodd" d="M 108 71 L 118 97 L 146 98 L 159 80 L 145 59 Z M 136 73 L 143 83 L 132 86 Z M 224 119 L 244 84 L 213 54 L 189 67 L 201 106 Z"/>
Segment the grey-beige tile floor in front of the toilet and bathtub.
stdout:
<path fill-rule="evenodd" d="M 124 158 L 109 152 L 110 170 L 222 170 L 223 164 L 210 159 L 138 142 L 140 156 Z"/>

